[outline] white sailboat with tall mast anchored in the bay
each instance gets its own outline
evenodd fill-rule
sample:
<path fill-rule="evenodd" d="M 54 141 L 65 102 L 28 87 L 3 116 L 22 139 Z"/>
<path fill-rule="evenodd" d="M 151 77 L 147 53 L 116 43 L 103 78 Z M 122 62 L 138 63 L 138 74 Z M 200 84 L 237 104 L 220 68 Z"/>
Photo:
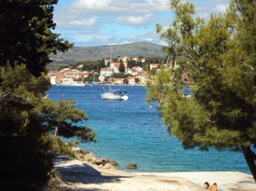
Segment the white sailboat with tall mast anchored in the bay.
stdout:
<path fill-rule="evenodd" d="M 113 63 L 112 60 L 112 46 L 110 48 L 110 66 Z M 111 89 L 111 72 L 109 77 L 109 89 L 108 92 L 104 92 L 104 86 L 102 87 L 101 98 L 108 100 L 127 100 L 129 98 L 129 93 L 123 89 Z"/>

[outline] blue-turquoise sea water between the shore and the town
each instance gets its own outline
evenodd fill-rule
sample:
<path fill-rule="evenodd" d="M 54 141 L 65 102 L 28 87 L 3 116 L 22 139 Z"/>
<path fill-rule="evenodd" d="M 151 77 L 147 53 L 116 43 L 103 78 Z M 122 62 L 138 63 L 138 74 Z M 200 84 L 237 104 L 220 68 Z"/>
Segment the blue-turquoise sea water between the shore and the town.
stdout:
<path fill-rule="evenodd" d="M 77 108 L 90 117 L 83 124 L 98 134 L 96 143 L 79 145 L 97 158 L 107 157 L 116 161 L 119 169 L 136 163 L 136 171 L 242 171 L 249 172 L 241 152 L 228 150 L 209 152 L 183 150 L 179 140 L 170 137 L 163 127 L 156 104 L 145 103 L 144 87 L 125 87 L 130 97 L 127 101 L 102 100 L 101 86 L 64 87 L 53 85 L 47 92 L 49 98 L 72 98 Z M 149 108 L 152 106 L 152 109 Z"/>

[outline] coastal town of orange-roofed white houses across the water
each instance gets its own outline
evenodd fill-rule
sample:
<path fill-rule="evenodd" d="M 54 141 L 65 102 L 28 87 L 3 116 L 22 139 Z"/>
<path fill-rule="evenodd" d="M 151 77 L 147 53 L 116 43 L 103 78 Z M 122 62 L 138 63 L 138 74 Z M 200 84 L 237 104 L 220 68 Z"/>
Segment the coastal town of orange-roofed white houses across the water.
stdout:
<path fill-rule="evenodd" d="M 63 67 L 58 70 L 49 71 L 47 73 L 48 79 L 51 80 L 52 85 L 60 85 L 61 83 L 75 84 L 80 82 L 84 85 L 99 85 L 106 84 L 109 81 L 113 85 L 146 85 L 148 80 L 147 68 L 151 71 L 157 71 L 160 64 L 148 62 L 148 58 L 131 58 L 128 56 L 118 57 L 118 59 L 104 59 L 104 67 L 99 71 L 84 70 L 82 63 L 77 66 Z M 129 67 L 129 63 L 133 62 L 133 66 Z M 137 63 L 137 64 L 136 64 Z M 170 68 L 170 63 L 164 63 L 164 67 Z M 121 68 L 123 68 L 121 70 Z M 119 74 L 124 74 L 124 77 L 114 77 Z M 93 80 L 88 80 L 92 76 Z"/>

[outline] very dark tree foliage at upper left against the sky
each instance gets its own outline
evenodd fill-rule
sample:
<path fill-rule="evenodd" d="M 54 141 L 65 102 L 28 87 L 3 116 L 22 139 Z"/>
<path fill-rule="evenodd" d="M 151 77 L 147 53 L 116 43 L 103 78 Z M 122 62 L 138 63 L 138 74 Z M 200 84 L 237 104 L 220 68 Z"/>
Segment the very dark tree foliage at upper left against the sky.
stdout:
<path fill-rule="evenodd" d="M 58 0 L 2 0 L 0 2 L 0 66 L 24 63 L 40 76 L 50 63 L 48 54 L 68 50 L 68 41 L 59 39 L 52 20 Z M 64 41 L 64 42 L 63 42 Z"/>

